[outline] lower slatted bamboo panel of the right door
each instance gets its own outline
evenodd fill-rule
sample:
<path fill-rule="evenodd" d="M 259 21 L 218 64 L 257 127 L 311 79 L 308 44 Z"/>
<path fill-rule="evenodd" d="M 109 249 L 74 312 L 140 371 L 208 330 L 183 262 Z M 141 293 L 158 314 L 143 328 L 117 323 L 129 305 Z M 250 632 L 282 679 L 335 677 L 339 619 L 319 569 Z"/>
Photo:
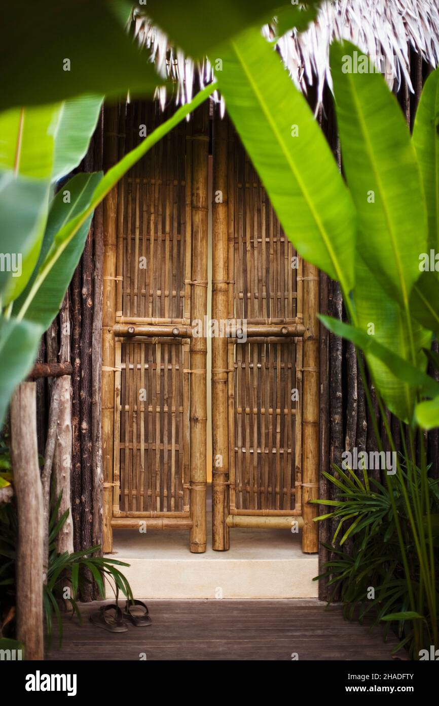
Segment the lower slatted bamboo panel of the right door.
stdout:
<path fill-rule="evenodd" d="M 295 346 L 235 346 L 235 508 L 295 509 Z"/>

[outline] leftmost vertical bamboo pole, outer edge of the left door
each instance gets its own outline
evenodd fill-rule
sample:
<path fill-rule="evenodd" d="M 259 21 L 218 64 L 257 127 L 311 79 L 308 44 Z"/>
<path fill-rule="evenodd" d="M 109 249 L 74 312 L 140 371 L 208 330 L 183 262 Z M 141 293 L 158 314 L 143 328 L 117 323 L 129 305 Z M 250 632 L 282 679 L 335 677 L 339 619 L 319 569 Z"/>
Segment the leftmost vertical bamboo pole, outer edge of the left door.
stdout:
<path fill-rule="evenodd" d="M 118 159 L 118 105 L 104 109 L 104 166 Z M 104 267 L 102 311 L 102 468 L 104 473 L 103 551 L 113 549 L 112 483 L 114 430 L 114 352 L 113 324 L 116 321 L 116 246 L 118 189 L 115 186 L 104 201 Z"/>

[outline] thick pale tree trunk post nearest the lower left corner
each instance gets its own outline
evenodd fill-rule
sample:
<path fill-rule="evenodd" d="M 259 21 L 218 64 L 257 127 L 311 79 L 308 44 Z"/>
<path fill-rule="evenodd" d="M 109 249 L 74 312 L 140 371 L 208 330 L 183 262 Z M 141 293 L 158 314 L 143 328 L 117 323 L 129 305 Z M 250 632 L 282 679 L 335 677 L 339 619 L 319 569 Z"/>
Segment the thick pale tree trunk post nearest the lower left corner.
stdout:
<path fill-rule="evenodd" d="M 26 659 L 44 659 L 43 495 L 37 445 L 36 383 L 18 385 L 11 402 L 11 455 L 17 498 L 17 639 Z"/>

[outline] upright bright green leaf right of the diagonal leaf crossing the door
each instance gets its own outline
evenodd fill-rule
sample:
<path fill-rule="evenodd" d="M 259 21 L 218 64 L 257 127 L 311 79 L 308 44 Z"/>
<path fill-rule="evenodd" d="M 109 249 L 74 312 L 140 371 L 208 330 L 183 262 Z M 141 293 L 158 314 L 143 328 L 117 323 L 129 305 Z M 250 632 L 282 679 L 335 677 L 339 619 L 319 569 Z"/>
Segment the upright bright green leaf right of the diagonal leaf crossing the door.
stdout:
<path fill-rule="evenodd" d="M 378 73 L 350 72 L 353 44 L 331 47 L 342 159 L 359 215 L 358 249 L 406 308 L 426 247 L 426 203 L 407 124 Z"/>

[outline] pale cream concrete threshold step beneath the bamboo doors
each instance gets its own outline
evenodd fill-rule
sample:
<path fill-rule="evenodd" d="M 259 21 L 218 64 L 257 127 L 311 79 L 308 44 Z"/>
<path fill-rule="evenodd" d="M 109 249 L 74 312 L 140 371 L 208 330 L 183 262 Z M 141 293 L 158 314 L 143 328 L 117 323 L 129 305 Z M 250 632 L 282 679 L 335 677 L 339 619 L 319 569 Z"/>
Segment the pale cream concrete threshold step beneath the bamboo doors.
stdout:
<path fill-rule="evenodd" d="M 230 550 L 191 554 L 189 532 L 115 530 L 113 556 L 135 597 L 149 599 L 316 598 L 317 554 L 285 530 L 230 530 Z M 109 588 L 107 597 L 113 592 Z"/>

